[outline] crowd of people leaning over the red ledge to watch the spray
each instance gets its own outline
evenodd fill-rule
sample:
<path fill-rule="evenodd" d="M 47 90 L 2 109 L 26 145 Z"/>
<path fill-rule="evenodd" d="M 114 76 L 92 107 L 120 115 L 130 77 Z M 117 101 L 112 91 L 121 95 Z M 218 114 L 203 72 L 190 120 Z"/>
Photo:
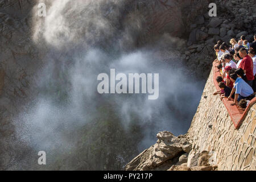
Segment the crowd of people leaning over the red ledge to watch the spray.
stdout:
<path fill-rule="evenodd" d="M 242 35 L 240 40 L 231 39 L 229 43 L 219 40 L 214 46 L 217 59 L 214 60 L 220 72 L 216 78 L 221 90 L 214 93 L 234 101 L 245 109 L 256 94 L 256 35 L 249 43 Z"/>

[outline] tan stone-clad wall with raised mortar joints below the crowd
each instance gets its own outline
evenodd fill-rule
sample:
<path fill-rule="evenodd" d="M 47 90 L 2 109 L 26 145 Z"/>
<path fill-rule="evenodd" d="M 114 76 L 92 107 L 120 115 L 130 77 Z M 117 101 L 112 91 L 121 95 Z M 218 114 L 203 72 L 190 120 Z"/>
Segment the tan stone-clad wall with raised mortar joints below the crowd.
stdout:
<path fill-rule="evenodd" d="M 218 170 L 256 170 L 256 104 L 236 130 L 219 96 L 211 71 L 186 137 L 193 140 L 189 155 L 214 151 Z"/>

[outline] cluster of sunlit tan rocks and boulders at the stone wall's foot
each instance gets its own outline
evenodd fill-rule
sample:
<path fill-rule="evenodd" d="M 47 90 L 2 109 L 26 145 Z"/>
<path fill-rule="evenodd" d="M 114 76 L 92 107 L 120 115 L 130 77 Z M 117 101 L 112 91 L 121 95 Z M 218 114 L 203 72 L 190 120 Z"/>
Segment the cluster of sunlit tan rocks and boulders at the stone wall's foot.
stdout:
<path fill-rule="evenodd" d="M 193 140 L 180 135 L 175 137 L 168 131 L 156 135 L 156 144 L 144 150 L 125 166 L 125 170 L 168 170 L 168 171 L 213 171 L 213 152 L 202 151 L 191 155 Z"/>

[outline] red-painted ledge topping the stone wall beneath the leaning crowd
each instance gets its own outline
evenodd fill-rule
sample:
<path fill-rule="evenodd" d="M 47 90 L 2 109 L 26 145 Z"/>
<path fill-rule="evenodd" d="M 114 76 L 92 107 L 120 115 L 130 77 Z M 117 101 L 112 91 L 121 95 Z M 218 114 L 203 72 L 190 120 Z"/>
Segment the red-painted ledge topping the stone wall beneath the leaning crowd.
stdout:
<path fill-rule="evenodd" d="M 220 87 L 218 86 L 218 82 L 216 81 L 216 77 L 220 76 L 220 72 L 216 68 L 218 63 L 213 62 L 213 83 L 217 90 L 220 90 Z M 233 101 L 228 101 L 228 98 L 222 99 L 223 104 L 226 107 L 226 110 L 228 111 L 230 118 L 232 119 L 232 122 L 234 124 L 234 127 L 238 130 L 239 127 L 242 125 L 243 119 L 246 118 L 246 115 L 248 111 L 250 110 L 250 107 L 253 106 L 256 103 L 256 97 L 250 101 L 249 105 L 246 107 L 245 111 L 239 109 L 236 105 L 231 106 Z"/>

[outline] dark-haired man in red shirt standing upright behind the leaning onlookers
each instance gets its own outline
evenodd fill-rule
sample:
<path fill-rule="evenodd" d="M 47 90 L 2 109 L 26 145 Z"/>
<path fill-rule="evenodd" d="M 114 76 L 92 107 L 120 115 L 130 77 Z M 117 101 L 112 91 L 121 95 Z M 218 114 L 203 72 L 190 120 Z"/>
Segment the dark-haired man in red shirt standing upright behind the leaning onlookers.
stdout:
<path fill-rule="evenodd" d="M 247 78 L 247 84 L 249 84 L 250 86 L 253 86 L 253 80 L 254 80 L 253 59 L 251 59 L 251 57 L 247 55 L 246 48 L 241 48 L 239 50 L 239 55 L 243 59 L 239 65 L 239 68 L 242 68 L 243 72 L 245 72 L 246 78 Z"/>

